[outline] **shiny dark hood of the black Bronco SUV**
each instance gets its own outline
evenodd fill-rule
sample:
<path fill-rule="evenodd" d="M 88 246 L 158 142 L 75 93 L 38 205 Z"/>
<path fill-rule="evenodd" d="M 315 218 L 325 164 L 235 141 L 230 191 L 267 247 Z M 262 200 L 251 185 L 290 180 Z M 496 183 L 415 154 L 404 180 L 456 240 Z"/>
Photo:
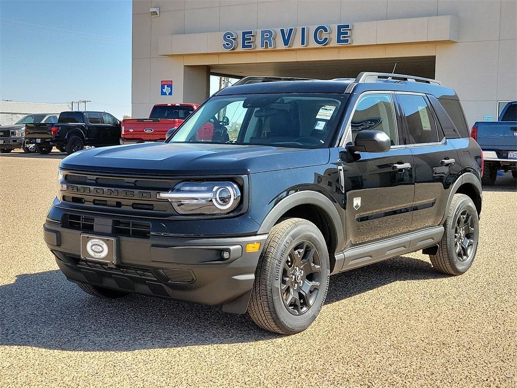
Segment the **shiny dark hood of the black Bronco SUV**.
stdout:
<path fill-rule="evenodd" d="M 143 143 L 94 148 L 72 154 L 63 169 L 159 175 L 250 174 L 325 165 L 328 148 L 265 145 Z"/>

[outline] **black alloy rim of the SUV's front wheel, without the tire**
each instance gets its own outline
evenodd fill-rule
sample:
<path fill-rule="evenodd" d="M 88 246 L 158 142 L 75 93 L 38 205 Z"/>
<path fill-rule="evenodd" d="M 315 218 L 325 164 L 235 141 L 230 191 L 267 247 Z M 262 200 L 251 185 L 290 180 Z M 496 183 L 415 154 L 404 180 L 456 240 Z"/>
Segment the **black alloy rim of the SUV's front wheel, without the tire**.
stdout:
<path fill-rule="evenodd" d="M 321 288 L 320 260 L 320 253 L 308 241 L 293 246 L 285 258 L 280 296 L 291 314 L 305 314 L 316 301 Z"/>

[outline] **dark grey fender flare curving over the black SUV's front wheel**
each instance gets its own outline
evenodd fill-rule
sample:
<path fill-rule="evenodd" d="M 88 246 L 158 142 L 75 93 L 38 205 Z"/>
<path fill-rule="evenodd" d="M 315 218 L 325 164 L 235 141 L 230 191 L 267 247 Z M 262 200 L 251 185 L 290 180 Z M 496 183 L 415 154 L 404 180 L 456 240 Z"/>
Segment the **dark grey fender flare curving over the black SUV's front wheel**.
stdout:
<path fill-rule="evenodd" d="M 345 240 L 342 217 L 340 217 L 332 201 L 317 191 L 297 191 L 282 199 L 269 211 L 257 234 L 269 233 L 282 214 L 299 205 L 315 205 L 326 214 L 332 222 L 330 227 L 333 227 L 336 232 L 336 253 L 341 252 Z"/>

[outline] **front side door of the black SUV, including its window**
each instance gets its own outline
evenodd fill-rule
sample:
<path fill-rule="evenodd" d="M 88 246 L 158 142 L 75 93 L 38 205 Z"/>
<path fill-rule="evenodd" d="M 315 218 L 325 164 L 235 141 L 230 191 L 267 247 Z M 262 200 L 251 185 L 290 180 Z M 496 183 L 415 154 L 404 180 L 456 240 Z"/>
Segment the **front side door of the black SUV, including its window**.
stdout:
<path fill-rule="evenodd" d="M 403 145 L 402 128 L 391 93 L 359 96 L 345 143 L 362 130 L 382 130 L 391 150 L 382 153 L 341 152 L 345 192 L 346 242 L 364 244 L 406 233 L 411 226 L 414 196 L 413 155 Z"/>

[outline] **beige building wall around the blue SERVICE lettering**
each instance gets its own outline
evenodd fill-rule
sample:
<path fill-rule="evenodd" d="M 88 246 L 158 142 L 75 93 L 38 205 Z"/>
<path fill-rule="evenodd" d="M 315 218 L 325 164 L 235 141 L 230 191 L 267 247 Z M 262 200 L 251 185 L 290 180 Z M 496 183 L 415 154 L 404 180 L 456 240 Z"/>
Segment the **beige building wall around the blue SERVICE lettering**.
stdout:
<path fill-rule="evenodd" d="M 517 99 L 516 21 L 515 0 L 133 0 L 132 114 L 201 102 L 215 64 L 435 55 L 436 79 L 456 89 L 472 124 Z M 346 47 L 221 49 L 224 31 L 347 22 Z M 160 96 L 162 79 L 174 80 L 173 96 Z"/>

